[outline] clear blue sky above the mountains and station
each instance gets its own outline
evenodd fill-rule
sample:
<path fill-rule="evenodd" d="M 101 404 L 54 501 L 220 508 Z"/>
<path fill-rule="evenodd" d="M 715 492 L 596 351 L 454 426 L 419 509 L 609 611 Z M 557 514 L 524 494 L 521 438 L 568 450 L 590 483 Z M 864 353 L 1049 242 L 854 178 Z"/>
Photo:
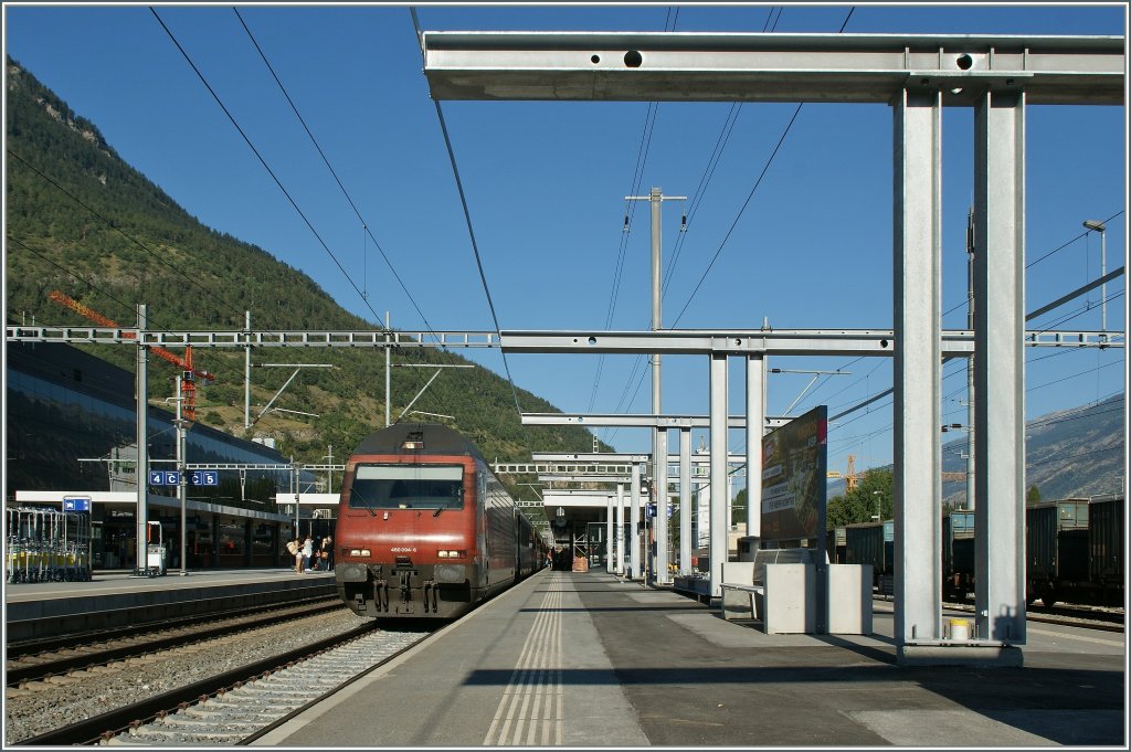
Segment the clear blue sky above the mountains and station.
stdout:
<path fill-rule="evenodd" d="M 431 7 L 425 29 L 837 32 L 851 6 Z M 361 222 L 311 146 L 228 6 L 155 6 L 241 128 L 279 176 L 353 284 L 282 195 L 148 6 L 5 5 L 8 54 L 92 120 L 130 164 L 205 224 L 302 269 L 346 309 L 377 322 L 426 325 L 392 279 Z M 239 6 L 369 227 L 437 330 L 493 329 L 443 138 L 421 71 L 406 6 Z M 780 16 L 778 10 L 782 9 Z M 776 23 L 776 26 L 775 26 Z M 846 33 L 1124 35 L 1125 8 L 1106 6 L 857 6 Z M 890 328 L 891 112 L 882 105 L 806 104 L 766 167 L 795 105 L 746 104 L 685 237 L 664 299 L 677 328 Z M 624 197 L 657 185 L 693 196 L 731 105 L 659 105 L 639 184 L 647 103 L 448 102 L 452 147 L 484 271 L 503 329 L 604 329 L 627 210 Z M 1098 276 L 1100 243 L 1083 219 L 1107 219 L 1107 268 L 1124 262 L 1123 107 L 1027 111 L 1026 310 Z M 973 188 L 973 116 L 943 118 L 944 326 L 965 326 L 965 225 Z M 681 208 L 664 210 L 664 259 Z M 737 221 L 736 221 L 737 219 Z M 734 226 L 727 237 L 728 230 Z M 724 237 L 727 237 L 724 243 Z M 1063 247 L 1061 249 L 1061 247 Z M 720 250 L 722 249 L 722 250 Z M 1061 250 L 1056 250 L 1061 249 Z M 711 257 L 718 258 L 694 295 Z M 636 207 L 613 329 L 646 329 L 647 207 Z M 1121 278 L 1107 286 L 1107 321 L 1124 328 Z M 1091 310 L 1085 311 L 1088 301 Z M 159 301 L 149 301 L 159 305 Z M 685 310 L 684 310 L 685 308 Z M 677 322 L 676 314 L 683 311 Z M 1094 292 L 1034 325 L 1077 313 L 1064 328 L 1098 329 Z M 123 314 L 118 312 L 119 314 Z M 498 352 L 466 353 L 502 372 Z M 1027 352 L 1030 417 L 1120 394 L 1122 349 Z M 374 353 L 375 356 L 375 353 Z M 1039 360 L 1038 360 L 1039 358 Z M 772 358 L 785 370 L 837 370 L 794 408 L 830 415 L 891 386 L 890 360 Z M 634 356 L 610 356 L 594 396 L 594 356 L 511 355 L 516 383 L 566 412 L 650 409 L 650 379 Z M 664 410 L 707 412 L 707 363 L 664 360 Z M 965 422 L 965 378 L 944 371 L 944 422 Z M 441 377 L 442 378 L 442 377 Z M 808 374 L 769 378 L 780 414 Z M 744 412 L 743 366 L 732 361 L 732 413 Z M 634 399 L 629 398 L 634 395 Z M 407 400 L 409 396 L 405 396 Z M 422 409 L 428 409 L 422 407 Z M 830 430 L 830 469 L 890 463 L 890 398 Z M 530 436 L 537 450 L 536 429 Z M 735 432 L 732 451 L 744 448 Z M 603 431 L 621 451 L 645 451 L 645 431 Z M 697 439 L 698 440 L 698 439 Z"/>

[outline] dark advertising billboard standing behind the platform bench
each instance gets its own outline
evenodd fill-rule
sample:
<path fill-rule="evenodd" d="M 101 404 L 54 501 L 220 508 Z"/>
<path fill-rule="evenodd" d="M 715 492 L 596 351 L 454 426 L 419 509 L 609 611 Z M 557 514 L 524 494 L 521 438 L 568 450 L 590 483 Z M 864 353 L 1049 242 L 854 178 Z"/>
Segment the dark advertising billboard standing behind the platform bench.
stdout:
<path fill-rule="evenodd" d="M 824 534 L 828 407 L 814 407 L 762 439 L 762 541 Z"/>

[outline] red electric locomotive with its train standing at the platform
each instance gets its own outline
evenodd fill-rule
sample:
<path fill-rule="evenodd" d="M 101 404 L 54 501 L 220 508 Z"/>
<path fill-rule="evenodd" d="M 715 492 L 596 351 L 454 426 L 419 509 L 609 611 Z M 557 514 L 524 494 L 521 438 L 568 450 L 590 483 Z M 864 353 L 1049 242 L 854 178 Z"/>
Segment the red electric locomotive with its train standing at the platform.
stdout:
<path fill-rule="evenodd" d="M 346 463 L 335 545 L 338 594 L 378 619 L 456 619 L 546 561 L 475 446 L 434 424 L 361 441 Z"/>

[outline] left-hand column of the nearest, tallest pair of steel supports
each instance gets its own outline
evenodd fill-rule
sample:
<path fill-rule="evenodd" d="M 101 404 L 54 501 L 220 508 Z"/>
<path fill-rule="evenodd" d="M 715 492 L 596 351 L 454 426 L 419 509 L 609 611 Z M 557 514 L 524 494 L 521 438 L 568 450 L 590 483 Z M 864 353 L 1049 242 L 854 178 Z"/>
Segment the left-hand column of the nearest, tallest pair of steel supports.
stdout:
<path fill-rule="evenodd" d="M 895 105 L 895 638 L 942 638 L 940 526 L 942 94 Z"/>

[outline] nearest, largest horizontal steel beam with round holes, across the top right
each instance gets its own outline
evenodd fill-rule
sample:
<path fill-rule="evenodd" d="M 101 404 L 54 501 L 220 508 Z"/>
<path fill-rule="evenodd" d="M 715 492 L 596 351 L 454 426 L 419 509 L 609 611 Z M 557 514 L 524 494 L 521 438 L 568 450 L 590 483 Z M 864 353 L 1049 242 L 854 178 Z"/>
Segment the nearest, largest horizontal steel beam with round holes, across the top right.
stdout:
<path fill-rule="evenodd" d="M 424 32 L 434 100 L 1122 104 L 1120 36 Z"/>

